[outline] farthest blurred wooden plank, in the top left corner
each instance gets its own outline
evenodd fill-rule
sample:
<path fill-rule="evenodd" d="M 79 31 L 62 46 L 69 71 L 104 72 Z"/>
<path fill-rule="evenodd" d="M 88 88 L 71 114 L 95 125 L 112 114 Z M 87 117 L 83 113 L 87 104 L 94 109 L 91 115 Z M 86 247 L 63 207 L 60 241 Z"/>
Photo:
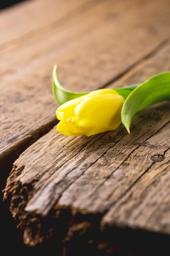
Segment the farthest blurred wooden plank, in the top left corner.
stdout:
<path fill-rule="evenodd" d="M 0 13 L 0 50 L 27 40 L 86 8 L 88 0 L 29 0 Z"/>

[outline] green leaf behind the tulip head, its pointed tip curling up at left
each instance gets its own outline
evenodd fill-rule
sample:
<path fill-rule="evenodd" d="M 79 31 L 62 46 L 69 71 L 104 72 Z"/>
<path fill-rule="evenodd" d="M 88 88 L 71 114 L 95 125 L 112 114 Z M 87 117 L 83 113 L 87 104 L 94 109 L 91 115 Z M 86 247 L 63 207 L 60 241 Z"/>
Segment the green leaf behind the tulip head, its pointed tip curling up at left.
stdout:
<path fill-rule="evenodd" d="M 130 85 L 126 86 L 124 88 L 112 88 L 113 90 L 116 90 L 120 95 L 126 99 L 128 95 L 138 86 L 136 85 Z M 57 75 L 57 65 L 54 65 L 53 72 L 52 72 L 52 90 L 54 97 L 57 101 L 57 103 L 61 106 L 63 103 L 70 101 L 71 99 L 75 99 L 81 96 L 84 96 L 90 92 L 71 92 L 69 90 L 64 89 L 60 82 Z"/>

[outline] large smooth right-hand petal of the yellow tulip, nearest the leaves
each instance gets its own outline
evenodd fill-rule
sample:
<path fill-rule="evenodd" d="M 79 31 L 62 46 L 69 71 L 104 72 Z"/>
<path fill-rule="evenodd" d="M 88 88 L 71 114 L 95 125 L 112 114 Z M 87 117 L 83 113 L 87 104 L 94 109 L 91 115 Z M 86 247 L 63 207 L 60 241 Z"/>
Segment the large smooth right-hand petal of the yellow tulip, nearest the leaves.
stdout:
<path fill-rule="evenodd" d="M 92 95 L 75 109 L 78 125 L 87 136 L 115 130 L 121 124 L 124 98 L 119 94 Z"/>

